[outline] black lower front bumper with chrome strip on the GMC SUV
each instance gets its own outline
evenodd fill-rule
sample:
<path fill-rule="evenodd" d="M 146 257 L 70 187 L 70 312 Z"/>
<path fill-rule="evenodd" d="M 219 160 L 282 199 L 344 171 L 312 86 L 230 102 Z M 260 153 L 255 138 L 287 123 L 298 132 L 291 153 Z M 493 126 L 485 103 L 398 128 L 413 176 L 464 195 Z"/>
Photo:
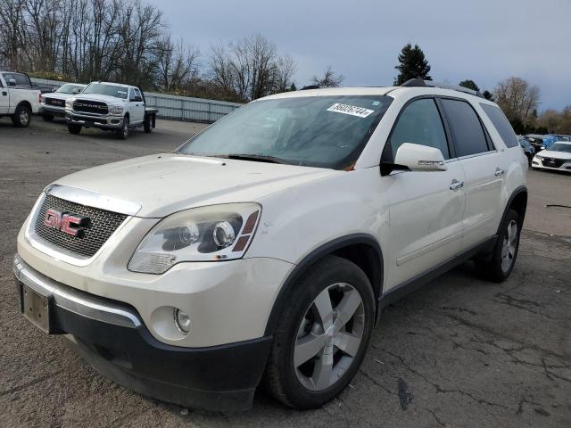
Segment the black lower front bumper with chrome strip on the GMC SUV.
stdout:
<path fill-rule="evenodd" d="M 51 300 L 54 333 L 98 372 L 147 396 L 211 411 L 244 410 L 269 354 L 271 337 L 204 348 L 157 341 L 137 310 L 57 283 L 16 256 L 13 273 L 21 293 L 26 284 Z"/>

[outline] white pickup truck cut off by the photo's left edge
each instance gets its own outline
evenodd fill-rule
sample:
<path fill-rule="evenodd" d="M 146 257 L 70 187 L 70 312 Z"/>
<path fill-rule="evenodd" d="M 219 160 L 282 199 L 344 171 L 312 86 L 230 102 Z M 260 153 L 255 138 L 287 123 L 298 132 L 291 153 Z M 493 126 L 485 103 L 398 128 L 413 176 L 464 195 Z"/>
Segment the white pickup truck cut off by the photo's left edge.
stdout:
<path fill-rule="evenodd" d="M 0 118 L 10 116 L 14 127 L 26 128 L 39 109 L 40 90 L 24 73 L 0 71 Z"/>

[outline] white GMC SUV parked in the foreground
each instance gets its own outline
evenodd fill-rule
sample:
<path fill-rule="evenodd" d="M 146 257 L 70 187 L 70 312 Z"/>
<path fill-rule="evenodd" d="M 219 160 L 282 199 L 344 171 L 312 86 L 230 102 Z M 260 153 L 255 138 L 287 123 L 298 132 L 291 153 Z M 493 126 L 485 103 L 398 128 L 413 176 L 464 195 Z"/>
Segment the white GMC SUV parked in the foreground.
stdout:
<path fill-rule="evenodd" d="M 526 170 L 466 89 L 272 95 L 176 152 L 47 186 L 18 236 L 21 310 L 145 395 L 244 409 L 264 376 L 318 407 L 385 305 L 467 259 L 509 276 Z"/>

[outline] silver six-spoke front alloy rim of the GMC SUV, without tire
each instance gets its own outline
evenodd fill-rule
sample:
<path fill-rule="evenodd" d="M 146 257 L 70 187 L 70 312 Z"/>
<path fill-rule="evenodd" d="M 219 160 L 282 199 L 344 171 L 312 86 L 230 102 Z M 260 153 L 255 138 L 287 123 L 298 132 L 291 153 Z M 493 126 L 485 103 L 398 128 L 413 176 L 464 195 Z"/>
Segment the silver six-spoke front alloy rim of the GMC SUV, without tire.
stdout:
<path fill-rule="evenodd" d="M 313 300 L 297 332 L 294 367 L 310 391 L 334 385 L 352 366 L 365 331 L 365 309 L 351 284 L 332 284 Z"/>

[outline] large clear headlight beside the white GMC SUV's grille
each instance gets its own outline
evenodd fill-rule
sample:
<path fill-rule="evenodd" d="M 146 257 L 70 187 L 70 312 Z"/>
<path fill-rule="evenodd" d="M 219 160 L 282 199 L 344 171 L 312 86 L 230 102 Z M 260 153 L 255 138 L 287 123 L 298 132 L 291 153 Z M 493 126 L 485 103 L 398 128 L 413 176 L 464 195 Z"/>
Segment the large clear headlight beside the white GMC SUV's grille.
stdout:
<path fill-rule="evenodd" d="M 128 269 L 162 274 L 181 261 L 240 259 L 252 241 L 261 207 L 228 203 L 163 218 L 139 243 Z"/>

